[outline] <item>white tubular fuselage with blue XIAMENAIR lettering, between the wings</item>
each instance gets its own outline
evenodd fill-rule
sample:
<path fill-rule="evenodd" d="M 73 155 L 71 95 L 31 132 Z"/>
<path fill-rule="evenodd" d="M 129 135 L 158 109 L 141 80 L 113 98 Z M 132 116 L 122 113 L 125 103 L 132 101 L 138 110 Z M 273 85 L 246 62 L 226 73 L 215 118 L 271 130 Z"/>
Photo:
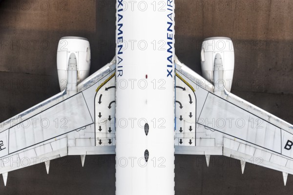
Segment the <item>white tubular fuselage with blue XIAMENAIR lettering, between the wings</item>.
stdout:
<path fill-rule="evenodd" d="M 174 194 L 174 8 L 117 1 L 116 195 Z"/>

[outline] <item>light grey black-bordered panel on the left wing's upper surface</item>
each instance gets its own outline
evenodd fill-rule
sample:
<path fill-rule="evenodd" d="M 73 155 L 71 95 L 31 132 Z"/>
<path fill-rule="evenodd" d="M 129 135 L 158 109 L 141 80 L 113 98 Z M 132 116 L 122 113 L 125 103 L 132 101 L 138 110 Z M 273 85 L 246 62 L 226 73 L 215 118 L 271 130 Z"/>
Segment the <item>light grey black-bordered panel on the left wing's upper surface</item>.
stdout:
<path fill-rule="evenodd" d="M 9 139 L 13 141 L 9 142 L 9 153 L 93 123 L 83 95 L 79 93 L 73 97 L 9 128 Z"/>

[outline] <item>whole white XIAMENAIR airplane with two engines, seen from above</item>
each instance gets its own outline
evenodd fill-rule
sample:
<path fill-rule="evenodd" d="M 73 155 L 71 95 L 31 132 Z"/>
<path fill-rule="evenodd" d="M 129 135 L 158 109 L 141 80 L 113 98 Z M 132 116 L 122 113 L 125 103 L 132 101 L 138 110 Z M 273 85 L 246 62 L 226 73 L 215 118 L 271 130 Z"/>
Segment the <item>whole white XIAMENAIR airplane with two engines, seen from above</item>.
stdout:
<path fill-rule="evenodd" d="M 49 171 L 56 157 L 81 155 L 84 163 L 86 155 L 116 154 L 117 195 L 169 195 L 174 154 L 202 154 L 207 164 L 210 155 L 224 155 L 239 159 L 242 171 L 246 162 L 281 171 L 286 184 L 292 125 L 230 93 L 231 40 L 204 40 L 201 77 L 174 54 L 174 2 L 153 15 L 124 6 L 119 0 L 111 62 L 89 76 L 89 42 L 62 38 L 62 92 L 1 123 L 4 183 L 9 171 L 36 163 L 45 162 Z M 157 22 L 142 22 L 146 16 Z M 157 31 L 148 31 L 150 25 Z M 153 40 L 164 40 L 165 47 L 146 47 Z"/>

